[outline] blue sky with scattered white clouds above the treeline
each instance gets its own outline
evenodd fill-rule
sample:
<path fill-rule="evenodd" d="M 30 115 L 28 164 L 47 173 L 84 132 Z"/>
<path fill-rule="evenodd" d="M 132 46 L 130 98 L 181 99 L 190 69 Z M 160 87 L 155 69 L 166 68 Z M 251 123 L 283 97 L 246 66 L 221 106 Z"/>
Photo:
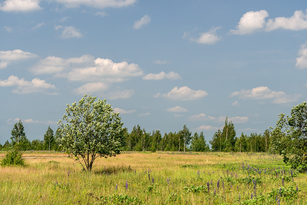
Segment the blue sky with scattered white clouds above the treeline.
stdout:
<path fill-rule="evenodd" d="M 0 1 L 0 143 L 106 98 L 130 132 L 263 133 L 306 101 L 305 1 Z"/>

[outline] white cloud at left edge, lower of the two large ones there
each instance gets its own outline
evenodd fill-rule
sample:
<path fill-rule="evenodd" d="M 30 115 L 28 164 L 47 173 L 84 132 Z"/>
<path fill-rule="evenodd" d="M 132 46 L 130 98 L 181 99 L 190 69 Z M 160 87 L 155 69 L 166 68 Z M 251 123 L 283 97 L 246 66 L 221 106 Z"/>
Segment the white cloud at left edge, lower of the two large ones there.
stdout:
<path fill-rule="evenodd" d="M 1 87 L 16 86 L 12 90 L 13 93 L 17 94 L 28 94 L 28 93 L 44 93 L 47 95 L 57 95 L 58 93 L 50 93 L 48 89 L 56 89 L 55 85 L 46 83 L 45 80 L 34 78 L 32 81 L 26 81 L 24 78 L 11 75 L 6 80 L 0 80 Z M 47 91 L 46 91 L 47 89 Z"/>

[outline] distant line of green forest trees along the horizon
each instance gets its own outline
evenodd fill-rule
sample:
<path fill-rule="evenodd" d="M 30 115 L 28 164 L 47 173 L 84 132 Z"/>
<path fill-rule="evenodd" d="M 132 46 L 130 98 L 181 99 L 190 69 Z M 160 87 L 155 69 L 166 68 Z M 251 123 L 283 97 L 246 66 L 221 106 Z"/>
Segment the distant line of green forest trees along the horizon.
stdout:
<path fill-rule="evenodd" d="M 18 134 L 16 134 L 18 132 Z M 18 139 L 15 136 L 20 136 Z M 218 129 L 212 139 L 207 142 L 204 138 L 204 133 L 192 132 L 183 126 L 182 130 L 177 132 L 165 133 L 163 136 L 160 130 L 146 132 L 139 125 L 134 126 L 129 133 L 127 128 L 123 131 L 123 151 L 171 151 L 171 152 L 275 152 L 270 129 L 267 129 L 263 134 L 251 133 L 246 135 L 243 132 L 238 137 L 235 132 L 234 124 L 226 117 L 223 129 Z M 54 133 L 48 127 L 43 140 L 30 141 L 24 132 L 24 127 L 21 121 L 14 125 L 12 130 L 11 141 L 7 140 L 5 144 L 0 144 L 0 150 L 9 150 L 14 145 L 18 144 L 21 150 L 47 150 L 61 151 L 60 128 Z M 211 145 L 211 148 L 209 146 Z M 274 144 L 274 143 L 273 143 Z"/>

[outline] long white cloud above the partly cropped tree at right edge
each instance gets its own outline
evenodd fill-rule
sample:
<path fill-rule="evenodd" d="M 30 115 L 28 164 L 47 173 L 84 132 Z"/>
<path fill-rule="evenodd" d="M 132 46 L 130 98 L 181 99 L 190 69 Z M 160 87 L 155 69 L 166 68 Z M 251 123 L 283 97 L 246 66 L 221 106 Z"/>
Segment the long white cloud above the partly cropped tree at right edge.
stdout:
<path fill-rule="evenodd" d="M 242 89 L 230 94 L 230 97 L 239 97 L 241 99 L 273 99 L 271 103 L 288 103 L 295 102 L 301 97 L 299 94 L 286 95 L 283 91 L 273 91 L 268 87 L 260 86 L 253 89 Z"/>

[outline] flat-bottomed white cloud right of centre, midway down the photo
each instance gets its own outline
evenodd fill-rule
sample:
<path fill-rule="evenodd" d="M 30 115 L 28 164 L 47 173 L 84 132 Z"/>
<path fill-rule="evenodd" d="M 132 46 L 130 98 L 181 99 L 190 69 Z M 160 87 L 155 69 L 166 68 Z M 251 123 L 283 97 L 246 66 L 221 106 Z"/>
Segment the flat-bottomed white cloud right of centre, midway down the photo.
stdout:
<path fill-rule="evenodd" d="M 208 93 L 204 90 L 192 90 L 187 86 L 180 87 L 174 87 L 171 91 L 168 93 L 157 93 L 153 97 L 164 97 L 170 100 L 199 100 L 201 98 L 204 98 L 208 95 Z"/>

